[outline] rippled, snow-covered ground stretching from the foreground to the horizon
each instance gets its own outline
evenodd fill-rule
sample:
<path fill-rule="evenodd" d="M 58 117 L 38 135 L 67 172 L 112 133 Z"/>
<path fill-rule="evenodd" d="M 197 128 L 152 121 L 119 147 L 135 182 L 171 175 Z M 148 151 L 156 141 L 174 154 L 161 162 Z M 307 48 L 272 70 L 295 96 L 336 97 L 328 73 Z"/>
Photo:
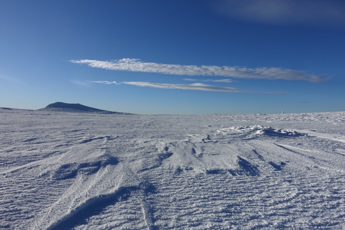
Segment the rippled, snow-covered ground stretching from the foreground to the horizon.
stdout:
<path fill-rule="evenodd" d="M 345 112 L 0 109 L 0 229 L 345 229 Z"/>

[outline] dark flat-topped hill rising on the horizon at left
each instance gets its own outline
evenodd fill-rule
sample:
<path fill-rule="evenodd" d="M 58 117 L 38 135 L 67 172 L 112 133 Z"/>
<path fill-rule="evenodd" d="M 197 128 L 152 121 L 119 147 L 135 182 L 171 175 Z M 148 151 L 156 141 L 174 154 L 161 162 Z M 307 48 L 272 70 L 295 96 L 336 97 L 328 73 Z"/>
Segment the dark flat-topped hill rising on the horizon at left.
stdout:
<path fill-rule="evenodd" d="M 47 105 L 45 108 L 37 109 L 38 111 L 56 111 L 56 112 L 70 112 L 70 113 L 99 113 L 99 114 L 125 114 L 130 115 L 132 113 L 120 113 L 112 112 L 103 109 L 92 108 L 81 104 L 71 104 L 63 102 L 55 102 Z"/>

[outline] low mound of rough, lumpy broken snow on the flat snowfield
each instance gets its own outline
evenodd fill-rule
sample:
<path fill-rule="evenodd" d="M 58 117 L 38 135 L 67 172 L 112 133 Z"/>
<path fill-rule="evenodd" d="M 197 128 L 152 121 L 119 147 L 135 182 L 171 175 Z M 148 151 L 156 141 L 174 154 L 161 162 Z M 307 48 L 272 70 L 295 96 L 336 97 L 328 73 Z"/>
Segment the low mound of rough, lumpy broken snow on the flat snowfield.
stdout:
<path fill-rule="evenodd" d="M 247 135 L 275 135 L 275 136 L 297 136 L 300 135 L 293 130 L 282 130 L 270 126 L 251 125 L 251 126 L 231 126 L 230 128 L 221 128 L 217 130 L 220 134 L 229 134 L 231 131 L 237 131 Z"/>

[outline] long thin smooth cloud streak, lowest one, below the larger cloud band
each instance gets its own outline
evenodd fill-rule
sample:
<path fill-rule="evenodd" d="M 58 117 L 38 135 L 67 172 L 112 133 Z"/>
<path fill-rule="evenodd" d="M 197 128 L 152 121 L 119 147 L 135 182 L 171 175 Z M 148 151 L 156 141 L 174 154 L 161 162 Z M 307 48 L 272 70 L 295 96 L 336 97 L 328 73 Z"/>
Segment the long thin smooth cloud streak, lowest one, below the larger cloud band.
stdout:
<path fill-rule="evenodd" d="M 268 94 L 285 94 L 281 92 L 255 92 L 243 89 L 236 89 L 231 87 L 218 87 L 212 85 L 205 85 L 202 83 L 193 83 L 190 85 L 183 84 L 160 84 L 151 82 L 122 82 L 122 84 L 146 86 L 161 89 L 185 89 L 185 90 L 201 90 L 201 91 L 214 91 L 214 92 L 228 92 L 228 93 L 268 93 Z"/>

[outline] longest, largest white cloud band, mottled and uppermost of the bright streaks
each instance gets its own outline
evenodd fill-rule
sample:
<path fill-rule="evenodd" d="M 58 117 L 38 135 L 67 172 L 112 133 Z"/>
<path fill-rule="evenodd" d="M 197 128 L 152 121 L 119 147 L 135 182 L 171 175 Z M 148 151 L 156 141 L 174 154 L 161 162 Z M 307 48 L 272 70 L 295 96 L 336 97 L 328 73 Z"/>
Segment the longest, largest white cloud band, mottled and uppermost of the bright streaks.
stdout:
<path fill-rule="evenodd" d="M 322 82 L 327 78 L 303 70 L 280 67 L 247 68 L 237 66 L 193 66 L 144 62 L 140 59 L 124 58 L 112 61 L 70 60 L 71 63 L 86 64 L 94 68 L 145 73 L 159 73 L 187 76 L 221 76 L 253 79 L 284 79 Z"/>

